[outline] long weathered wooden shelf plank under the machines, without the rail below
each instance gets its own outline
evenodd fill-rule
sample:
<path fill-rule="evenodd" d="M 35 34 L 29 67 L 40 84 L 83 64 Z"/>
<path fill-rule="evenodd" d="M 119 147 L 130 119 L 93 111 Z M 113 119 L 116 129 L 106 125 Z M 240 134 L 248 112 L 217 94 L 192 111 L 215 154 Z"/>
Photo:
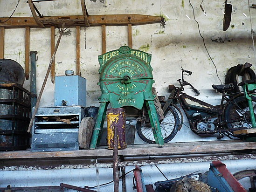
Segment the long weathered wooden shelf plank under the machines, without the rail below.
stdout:
<path fill-rule="evenodd" d="M 225 147 L 223 147 L 225 146 Z M 223 140 L 208 142 L 168 143 L 159 147 L 158 144 L 128 145 L 126 149 L 118 151 L 118 155 L 124 157 L 135 156 L 165 156 L 186 154 L 215 154 L 255 150 L 256 142 L 243 142 L 241 140 Z M 30 151 L 0 151 L 0 159 L 17 158 L 103 158 L 112 157 L 113 151 L 108 149 L 77 150 L 77 151 L 52 151 L 52 152 L 30 152 Z"/>

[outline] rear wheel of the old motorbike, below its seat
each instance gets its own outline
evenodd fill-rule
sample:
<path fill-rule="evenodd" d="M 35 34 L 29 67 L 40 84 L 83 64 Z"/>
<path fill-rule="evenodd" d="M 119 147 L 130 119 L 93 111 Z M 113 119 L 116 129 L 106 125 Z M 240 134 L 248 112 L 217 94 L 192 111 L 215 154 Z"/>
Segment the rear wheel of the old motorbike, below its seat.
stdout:
<path fill-rule="evenodd" d="M 256 97 L 254 96 L 252 97 L 252 106 L 254 117 L 256 117 Z M 229 103 L 224 116 L 228 129 L 240 127 L 244 127 L 244 129 L 251 128 L 249 104 L 244 96 L 239 96 Z"/>

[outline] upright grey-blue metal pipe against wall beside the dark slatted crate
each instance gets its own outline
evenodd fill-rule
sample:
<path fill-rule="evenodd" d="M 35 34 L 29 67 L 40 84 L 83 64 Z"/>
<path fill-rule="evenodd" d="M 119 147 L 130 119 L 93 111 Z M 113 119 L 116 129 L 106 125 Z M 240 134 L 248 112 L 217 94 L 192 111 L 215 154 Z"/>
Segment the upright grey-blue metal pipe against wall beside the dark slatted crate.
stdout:
<path fill-rule="evenodd" d="M 35 62 L 36 62 L 36 54 L 37 51 L 30 51 L 30 92 L 31 92 L 31 111 L 32 108 L 35 107 L 36 103 L 36 68 L 35 68 Z"/>

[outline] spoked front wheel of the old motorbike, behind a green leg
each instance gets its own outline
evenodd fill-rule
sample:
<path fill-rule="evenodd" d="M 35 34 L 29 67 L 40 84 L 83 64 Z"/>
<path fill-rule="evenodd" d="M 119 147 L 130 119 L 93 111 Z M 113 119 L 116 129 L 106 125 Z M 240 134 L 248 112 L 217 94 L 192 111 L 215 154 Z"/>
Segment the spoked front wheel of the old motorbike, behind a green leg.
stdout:
<path fill-rule="evenodd" d="M 165 103 L 161 103 L 162 107 Z M 150 124 L 150 123 L 149 123 Z M 136 130 L 138 137 L 149 144 L 155 144 L 155 138 L 152 131 L 151 124 L 145 124 L 144 126 L 140 121 L 137 121 Z M 162 122 L 160 122 L 160 130 L 164 139 L 164 143 L 167 143 L 173 139 L 178 132 L 180 125 L 180 118 L 175 109 L 171 105 L 166 109 L 166 115 Z"/>

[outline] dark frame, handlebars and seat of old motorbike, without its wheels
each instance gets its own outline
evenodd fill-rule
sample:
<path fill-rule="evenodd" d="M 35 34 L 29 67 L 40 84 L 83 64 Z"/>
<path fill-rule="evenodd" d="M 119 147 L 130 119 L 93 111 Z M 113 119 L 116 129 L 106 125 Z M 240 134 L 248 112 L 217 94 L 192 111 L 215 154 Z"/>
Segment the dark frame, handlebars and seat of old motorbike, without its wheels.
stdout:
<path fill-rule="evenodd" d="M 231 91 L 232 88 L 217 90 L 218 92 L 220 92 L 222 94 L 221 103 L 219 105 L 211 105 L 209 103 L 201 101 L 193 96 L 187 95 L 186 93 L 182 92 L 182 91 L 184 91 L 184 86 L 189 85 L 194 90 L 196 96 L 200 94 L 199 91 L 197 89 L 195 89 L 192 84 L 190 84 L 189 82 L 184 80 L 184 72 L 187 72 L 186 75 L 192 74 L 192 72 L 182 69 L 182 81 L 181 81 L 181 79 L 178 80 L 178 82 L 180 82 L 180 87 L 175 87 L 174 85 L 169 85 L 169 91 L 171 91 L 171 94 L 168 96 L 166 103 L 163 107 L 164 113 L 166 112 L 166 109 L 169 105 L 175 106 L 176 103 L 180 103 L 180 106 L 183 109 L 183 111 L 188 119 L 189 126 L 190 126 L 191 130 L 194 131 L 198 135 L 210 135 L 210 134 L 214 134 L 214 133 L 225 133 L 225 135 L 229 137 L 229 135 L 233 136 L 233 134 L 230 133 L 230 131 L 242 129 L 242 128 L 237 128 L 234 130 L 228 129 L 226 127 L 226 124 L 230 123 L 230 122 L 224 121 L 224 119 L 225 119 L 224 114 L 225 114 L 225 110 L 228 106 L 228 103 L 234 103 L 234 99 L 239 96 L 243 96 L 243 93 L 239 93 L 236 95 L 227 94 L 227 92 Z M 233 97 L 228 98 L 228 96 L 231 96 L 231 95 Z M 187 104 L 185 101 L 185 98 L 187 98 L 193 102 L 196 102 L 201 106 Z M 226 103 L 224 103 L 225 101 L 226 101 Z M 177 106 L 175 108 L 177 108 Z M 196 123 L 196 121 L 201 121 L 201 120 L 192 117 L 194 112 L 202 112 L 203 113 L 202 119 L 205 119 L 205 118 L 210 119 L 210 118 L 217 117 L 217 119 L 214 120 L 214 122 L 212 122 L 214 124 L 214 126 L 216 126 L 216 129 L 214 127 L 214 130 L 209 130 L 209 131 L 197 130 L 197 128 L 195 127 L 195 123 Z M 182 116 L 181 113 L 180 113 L 180 115 Z M 202 122 L 204 122 L 204 120 L 202 120 Z M 182 123 L 183 122 L 181 121 L 179 128 L 181 128 Z"/>

